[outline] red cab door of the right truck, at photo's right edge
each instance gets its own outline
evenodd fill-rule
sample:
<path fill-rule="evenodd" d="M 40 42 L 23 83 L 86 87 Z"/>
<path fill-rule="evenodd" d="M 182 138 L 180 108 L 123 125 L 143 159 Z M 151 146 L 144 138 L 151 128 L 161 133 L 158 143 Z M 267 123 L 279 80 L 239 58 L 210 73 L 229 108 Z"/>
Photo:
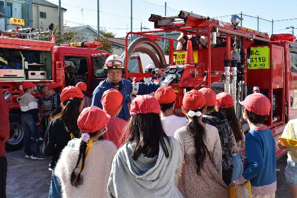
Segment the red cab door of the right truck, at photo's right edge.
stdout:
<path fill-rule="evenodd" d="M 288 93 L 289 93 L 289 113 L 288 120 L 297 118 L 297 46 L 290 45 L 290 61 L 288 66 Z"/>

